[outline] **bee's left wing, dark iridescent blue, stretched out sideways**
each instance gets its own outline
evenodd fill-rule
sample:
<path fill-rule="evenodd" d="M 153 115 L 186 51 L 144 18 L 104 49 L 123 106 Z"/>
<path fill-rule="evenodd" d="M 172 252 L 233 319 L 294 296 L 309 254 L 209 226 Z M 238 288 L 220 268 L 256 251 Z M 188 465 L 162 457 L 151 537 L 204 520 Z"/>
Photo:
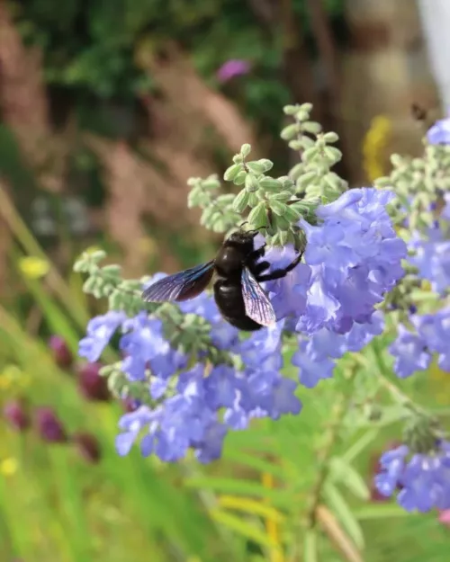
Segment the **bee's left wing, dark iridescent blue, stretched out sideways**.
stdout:
<path fill-rule="evenodd" d="M 201 263 L 183 272 L 167 275 L 144 290 L 142 299 L 148 302 L 193 299 L 206 289 L 213 272 L 214 260 L 211 260 L 211 262 Z"/>

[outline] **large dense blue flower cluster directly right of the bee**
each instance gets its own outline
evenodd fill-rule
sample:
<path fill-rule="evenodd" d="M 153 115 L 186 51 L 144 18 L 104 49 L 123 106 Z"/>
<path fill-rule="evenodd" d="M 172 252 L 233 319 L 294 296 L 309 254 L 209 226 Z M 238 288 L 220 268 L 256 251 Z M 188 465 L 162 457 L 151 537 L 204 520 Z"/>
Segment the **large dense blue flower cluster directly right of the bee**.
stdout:
<path fill-rule="evenodd" d="M 370 322 L 375 305 L 404 274 L 407 246 L 386 211 L 393 198 L 392 192 L 352 189 L 316 210 L 317 226 L 300 221 L 305 263 L 266 285 L 277 317 L 289 317 L 303 335 L 322 328 L 347 334 L 354 324 Z M 267 259 L 276 268 L 292 255 L 292 247 L 273 248 Z"/>

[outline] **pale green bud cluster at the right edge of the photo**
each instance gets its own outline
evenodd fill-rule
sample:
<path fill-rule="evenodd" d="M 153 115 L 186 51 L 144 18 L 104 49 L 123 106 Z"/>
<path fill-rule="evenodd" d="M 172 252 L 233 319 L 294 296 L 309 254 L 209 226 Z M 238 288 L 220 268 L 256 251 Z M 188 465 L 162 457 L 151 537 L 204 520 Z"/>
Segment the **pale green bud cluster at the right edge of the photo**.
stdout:
<path fill-rule="evenodd" d="M 375 181 L 375 187 L 390 188 L 397 195 L 392 217 L 397 224 L 408 219 L 410 230 L 426 230 L 436 216 L 433 204 L 450 190 L 450 146 L 429 145 L 424 156 L 391 156 L 392 173 Z"/>

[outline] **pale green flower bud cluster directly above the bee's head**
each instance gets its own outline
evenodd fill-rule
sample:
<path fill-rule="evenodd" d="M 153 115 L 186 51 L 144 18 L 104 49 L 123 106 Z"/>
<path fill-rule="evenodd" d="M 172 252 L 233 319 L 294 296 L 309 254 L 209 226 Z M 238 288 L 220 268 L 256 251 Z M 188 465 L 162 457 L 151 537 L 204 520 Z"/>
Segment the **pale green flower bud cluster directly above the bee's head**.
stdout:
<path fill-rule="evenodd" d="M 274 163 L 267 158 L 249 160 L 251 147 L 245 144 L 223 176 L 226 182 L 241 187 L 236 195 L 219 195 L 220 182 L 215 175 L 189 180 L 188 206 L 202 208 L 203 226 L 228 234 L 245 219 L 247 228 L 259 229 L 269 245 L 302 245 L 299 219 L 314 222 L 314 210 L 320 202 L 337 199 L 348 187 L 330 171 L 342 157 L 338 148 L 329 146 L 338 135 L 322 133 L 320 124 L 310 120 L 311 109 L 311 103 L 284 108 L 294 123 L 283 129 L 282 138 L 302 157 L 288 175 L 270 175 Z"/>

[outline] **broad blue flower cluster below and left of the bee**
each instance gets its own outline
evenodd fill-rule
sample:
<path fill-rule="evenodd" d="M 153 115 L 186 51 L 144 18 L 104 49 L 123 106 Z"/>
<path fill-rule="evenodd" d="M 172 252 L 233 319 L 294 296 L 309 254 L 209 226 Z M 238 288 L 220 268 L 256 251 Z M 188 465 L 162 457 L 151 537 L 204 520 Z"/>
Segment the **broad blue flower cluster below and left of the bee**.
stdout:
<path fill-rule="evenodd" d="M 226 364 L 209 367 L 200 361 L 188 369 L 189 358 L 166 341 L 162 322 L 144 312 L 127 318 L 111 311 L 95 317 L 87 327 L 80 342 L 82 356 L 96 361 L 120 327 L 121 369 L 127 378 L 146 380 L 151 373 L 148 391 L 155 407 L 139 406 L 122 416 L 116 442 L 122 455 L 144 430 L 143 455 L 154 452 L 162 460 L 175 461 L 193 449 L 199 460 L 207 462 L 220 456 L 229 428 L 245 429 L 252 417 L 277 419 L 301 411 L 294 395 L 297 383 L 280 374 L 283 321 L 240 341 L 237 330 L 221 320 L 211 297 L 203 294 L 182 308 L 192 312 L 193 304 L 211 322 L 215 344 L 240 356 L 242 370 Z"/>

